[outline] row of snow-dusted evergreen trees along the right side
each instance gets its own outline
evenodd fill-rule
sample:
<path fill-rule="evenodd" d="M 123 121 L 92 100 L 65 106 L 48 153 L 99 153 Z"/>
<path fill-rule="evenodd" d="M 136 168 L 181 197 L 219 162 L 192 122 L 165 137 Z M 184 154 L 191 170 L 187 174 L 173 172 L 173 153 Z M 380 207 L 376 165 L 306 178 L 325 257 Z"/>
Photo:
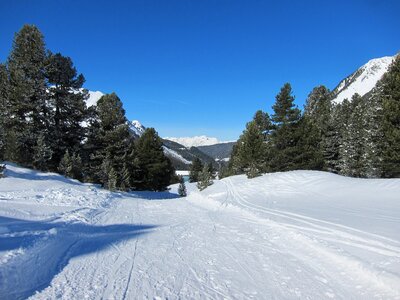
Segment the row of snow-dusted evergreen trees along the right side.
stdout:
<path fill-rule="evenodd" d="M 400 55 L 367 95 L 342 103 L 318 86 L 304 111 L 286 83 L 270 116 L 257 111 L 220 177 L 322 170 L 361 178 L 400 177 Z"/>

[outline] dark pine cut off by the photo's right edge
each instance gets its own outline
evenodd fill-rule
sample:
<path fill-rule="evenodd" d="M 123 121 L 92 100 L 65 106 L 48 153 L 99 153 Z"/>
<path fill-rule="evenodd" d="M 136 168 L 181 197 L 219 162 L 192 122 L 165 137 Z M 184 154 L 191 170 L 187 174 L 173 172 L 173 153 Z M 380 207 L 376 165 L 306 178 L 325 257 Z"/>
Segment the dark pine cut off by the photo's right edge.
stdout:
<path fill-rule="evenodd" d="M 382 173 L 400 177 L 400 55 L 382 77 Z"/>

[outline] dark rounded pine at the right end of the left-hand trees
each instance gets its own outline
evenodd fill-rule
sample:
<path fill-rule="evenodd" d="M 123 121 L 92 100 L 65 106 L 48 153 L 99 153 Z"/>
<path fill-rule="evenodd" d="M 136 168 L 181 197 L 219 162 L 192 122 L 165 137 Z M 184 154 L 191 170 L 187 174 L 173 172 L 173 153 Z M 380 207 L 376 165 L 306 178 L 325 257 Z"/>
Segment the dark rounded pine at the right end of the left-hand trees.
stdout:
<path fill-rule="evenodd" d="M 136 177 L 135 189 L 166 190 L 175 170 L 165 156 L 162 140 L 154 128 L 147 128 L 137 140 L 136 152 L 136 167 L 140 170 L 140 177 Z"/>

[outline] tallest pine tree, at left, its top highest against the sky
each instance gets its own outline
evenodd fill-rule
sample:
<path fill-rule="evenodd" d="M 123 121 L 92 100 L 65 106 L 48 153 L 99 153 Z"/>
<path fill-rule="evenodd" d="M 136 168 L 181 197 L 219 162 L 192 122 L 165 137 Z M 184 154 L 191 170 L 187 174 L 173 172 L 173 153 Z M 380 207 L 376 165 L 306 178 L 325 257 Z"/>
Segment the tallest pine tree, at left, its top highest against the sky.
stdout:
<path fill-rule="evenodd" d="M 15 35 L 7 61 L 9 118 L 5 127 L 8 159 L 27 166 L 32 165 L 39 134 L 48 127 L 45 61 L 43 35 L 35 26 L 24 25 Z"/>

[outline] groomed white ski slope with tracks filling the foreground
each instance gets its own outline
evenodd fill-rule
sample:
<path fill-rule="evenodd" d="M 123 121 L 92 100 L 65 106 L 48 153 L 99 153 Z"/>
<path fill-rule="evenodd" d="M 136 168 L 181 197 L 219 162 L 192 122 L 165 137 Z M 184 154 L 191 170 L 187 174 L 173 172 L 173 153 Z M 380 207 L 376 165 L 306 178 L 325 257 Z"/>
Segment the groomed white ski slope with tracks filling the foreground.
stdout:
<path fill-rule="evenodd" d="M 400 299 L 400 180 L 294 171 L 189 196 L 7 166 L 0 299 Z"/>

